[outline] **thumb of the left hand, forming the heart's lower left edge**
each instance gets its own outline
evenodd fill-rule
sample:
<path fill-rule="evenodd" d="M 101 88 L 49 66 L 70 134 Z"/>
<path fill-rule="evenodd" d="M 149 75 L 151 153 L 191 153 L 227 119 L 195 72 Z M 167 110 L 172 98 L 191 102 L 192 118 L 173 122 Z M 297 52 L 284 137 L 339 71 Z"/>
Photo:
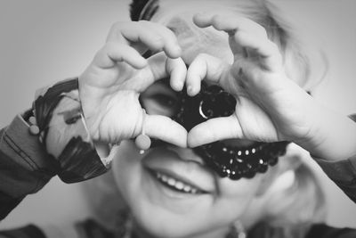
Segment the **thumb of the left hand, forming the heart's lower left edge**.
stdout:
<path fill-rule="evenodd" d="M 187 147 L 187 131 L 182 125 L 165 116 L 147 115 L 146 135 L 180 147 Z M 169 133 L 167 133 L 169 132 Z"/>

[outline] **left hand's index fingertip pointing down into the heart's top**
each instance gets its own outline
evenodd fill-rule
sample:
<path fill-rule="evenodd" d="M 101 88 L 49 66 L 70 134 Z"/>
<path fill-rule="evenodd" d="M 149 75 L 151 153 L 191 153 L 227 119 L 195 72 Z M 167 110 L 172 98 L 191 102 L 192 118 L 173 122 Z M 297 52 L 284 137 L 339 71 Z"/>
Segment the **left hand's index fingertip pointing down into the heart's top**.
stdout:
<path fill-rule="evenodd" d="M 171 76 L 170 84 L 175 91 L 182 91 L 185 78 L 187 77 L 187 67 L 182 58 L 166 60 L 166 72 Z"/>

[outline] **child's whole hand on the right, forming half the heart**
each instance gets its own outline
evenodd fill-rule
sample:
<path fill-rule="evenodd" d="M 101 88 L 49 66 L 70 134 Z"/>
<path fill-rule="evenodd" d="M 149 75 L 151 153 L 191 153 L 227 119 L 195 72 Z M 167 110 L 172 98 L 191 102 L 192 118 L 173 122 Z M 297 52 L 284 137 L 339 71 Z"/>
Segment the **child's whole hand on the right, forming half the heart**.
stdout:
<path fill-rule="evenodd" d="M 229 34 L 234 62 L 198 55 L 187 73 L 190 95 L 198 94 L 205 79 L 235 95 L 237 106 L 231 117 L 193 127 L 188 135 L 190 147 L 230 138 L 299 143 L 313 135 L 315 103 L 287 78 L 279 48 L 262 26 L 246 18 L 209 13 L 195 15 L 194 22 Z"/>

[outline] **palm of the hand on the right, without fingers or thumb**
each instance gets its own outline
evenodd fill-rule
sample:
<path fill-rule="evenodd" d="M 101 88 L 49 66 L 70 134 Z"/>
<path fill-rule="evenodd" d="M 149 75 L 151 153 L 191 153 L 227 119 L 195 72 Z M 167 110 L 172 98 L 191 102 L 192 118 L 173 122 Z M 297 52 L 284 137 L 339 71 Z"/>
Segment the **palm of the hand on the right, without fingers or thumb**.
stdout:
<path fill-rule="evenodd" d="M 307 135 L 308 127 L 303 125 L 305 113 L 302 113 L 305 105 L 296 99 L 308 98 L 308 94 L 284 76 L 258 68 L 253 70 L 245 68 L 246 73 L 235 77 L 244 81 L 235 112 L 243 136 L 273 142 Z M 251 78 L 251 75 L 261 75 L 261 78 Z M 303 97 L 297 94 L 303 94 Z"/>

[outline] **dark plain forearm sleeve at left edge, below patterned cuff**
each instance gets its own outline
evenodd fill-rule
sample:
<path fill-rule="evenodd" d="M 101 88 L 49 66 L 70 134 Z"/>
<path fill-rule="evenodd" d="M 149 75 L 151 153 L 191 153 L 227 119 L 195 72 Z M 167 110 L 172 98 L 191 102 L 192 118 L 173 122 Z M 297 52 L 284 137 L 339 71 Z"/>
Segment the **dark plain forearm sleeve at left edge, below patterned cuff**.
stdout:
<path fill-rule="evenodd" d="M 0 131 L 0 219 L 52 176 L 54 166 L 20 115 Z"/>

